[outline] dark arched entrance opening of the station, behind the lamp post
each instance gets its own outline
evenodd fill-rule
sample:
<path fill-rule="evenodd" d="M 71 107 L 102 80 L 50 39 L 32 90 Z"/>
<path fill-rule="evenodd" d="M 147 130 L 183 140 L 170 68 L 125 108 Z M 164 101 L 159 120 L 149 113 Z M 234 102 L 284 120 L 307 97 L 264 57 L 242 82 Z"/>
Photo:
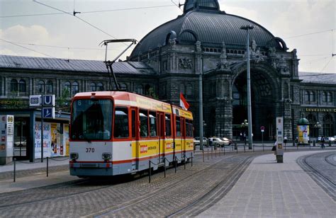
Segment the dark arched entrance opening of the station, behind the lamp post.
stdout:
<path fill-rule="evenodd" d="M 274 139 L 277 85 L 267 71 L 251 69 L 252 133 L 254 140 L 262 139 L 260 127 L 265 127 L 264 139 Z M 247 71 L 242 70 L 233 81 L 233 137 L 247 134 L 242 122 L 247 120 Z"/>

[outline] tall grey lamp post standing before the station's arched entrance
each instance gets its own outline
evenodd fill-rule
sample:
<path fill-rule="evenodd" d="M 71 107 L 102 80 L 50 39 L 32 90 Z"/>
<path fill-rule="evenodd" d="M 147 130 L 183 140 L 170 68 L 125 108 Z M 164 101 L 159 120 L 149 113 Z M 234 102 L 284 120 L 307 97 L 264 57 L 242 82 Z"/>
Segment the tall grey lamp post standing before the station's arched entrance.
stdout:
<path fill-rule="evenodd" d="M 252 109 L 251 109 L 251 78 L 250 78 L 250 33 L 249 30 L 254 28 L 253 25 L 243 25 L 240 29 L 246 30 L 246 52 L 247 52 L 247 119 L 249 127 L 249 149 L 252 149 Z"/>

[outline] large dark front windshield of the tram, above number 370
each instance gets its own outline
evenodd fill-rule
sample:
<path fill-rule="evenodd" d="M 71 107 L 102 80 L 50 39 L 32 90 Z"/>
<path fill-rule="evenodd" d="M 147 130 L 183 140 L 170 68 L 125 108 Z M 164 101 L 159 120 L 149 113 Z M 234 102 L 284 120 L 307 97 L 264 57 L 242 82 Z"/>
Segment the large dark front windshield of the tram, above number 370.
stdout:
<path fill-rule="evenodd" d="M 113 103 L 108 99 L 79 99 L 72 104 L 71 138 L 111 139 Z"/>

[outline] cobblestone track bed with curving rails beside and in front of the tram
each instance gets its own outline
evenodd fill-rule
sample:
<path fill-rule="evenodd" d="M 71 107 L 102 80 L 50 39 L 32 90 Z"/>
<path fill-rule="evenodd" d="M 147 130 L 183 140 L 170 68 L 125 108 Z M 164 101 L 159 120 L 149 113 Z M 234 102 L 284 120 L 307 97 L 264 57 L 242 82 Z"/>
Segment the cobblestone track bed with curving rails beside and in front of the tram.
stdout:
<path fill-rule="evenodd" d="M 194 166 L 186 164 L 186 170 L 183 165 L 177 168 L 177 173 L 169 168 L 166 178 L 163 172 L 155 173 L 151 183 L 147 176 L 121 177 L 114 182 L 81 179 L 3 193 L 0 195 L 0 216 L 164 217 L 206 195 L 208 197 L 203 197 L 206 204 L 214 204 L 209 198 L 217 195 L 216 190 L 220 188 L 227 193 L 223 185 L 232 187 L 234 183 L 226 182 L 237 180 L 255 155 L 217 154 L 217 158 L 213 156 L 204 163 L 198 156 Z"/>

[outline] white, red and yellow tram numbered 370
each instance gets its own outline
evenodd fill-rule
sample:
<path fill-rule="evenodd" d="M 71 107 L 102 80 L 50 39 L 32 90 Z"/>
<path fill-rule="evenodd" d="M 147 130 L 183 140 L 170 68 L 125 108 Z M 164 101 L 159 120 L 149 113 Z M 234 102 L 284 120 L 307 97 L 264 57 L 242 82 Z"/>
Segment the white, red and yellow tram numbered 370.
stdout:
<path fill-rule="evenodd" d="M 194 155 L 191 112 L 126 91 L 77 93 L 69 134 L 72 176 L 156 170 Z"/>

